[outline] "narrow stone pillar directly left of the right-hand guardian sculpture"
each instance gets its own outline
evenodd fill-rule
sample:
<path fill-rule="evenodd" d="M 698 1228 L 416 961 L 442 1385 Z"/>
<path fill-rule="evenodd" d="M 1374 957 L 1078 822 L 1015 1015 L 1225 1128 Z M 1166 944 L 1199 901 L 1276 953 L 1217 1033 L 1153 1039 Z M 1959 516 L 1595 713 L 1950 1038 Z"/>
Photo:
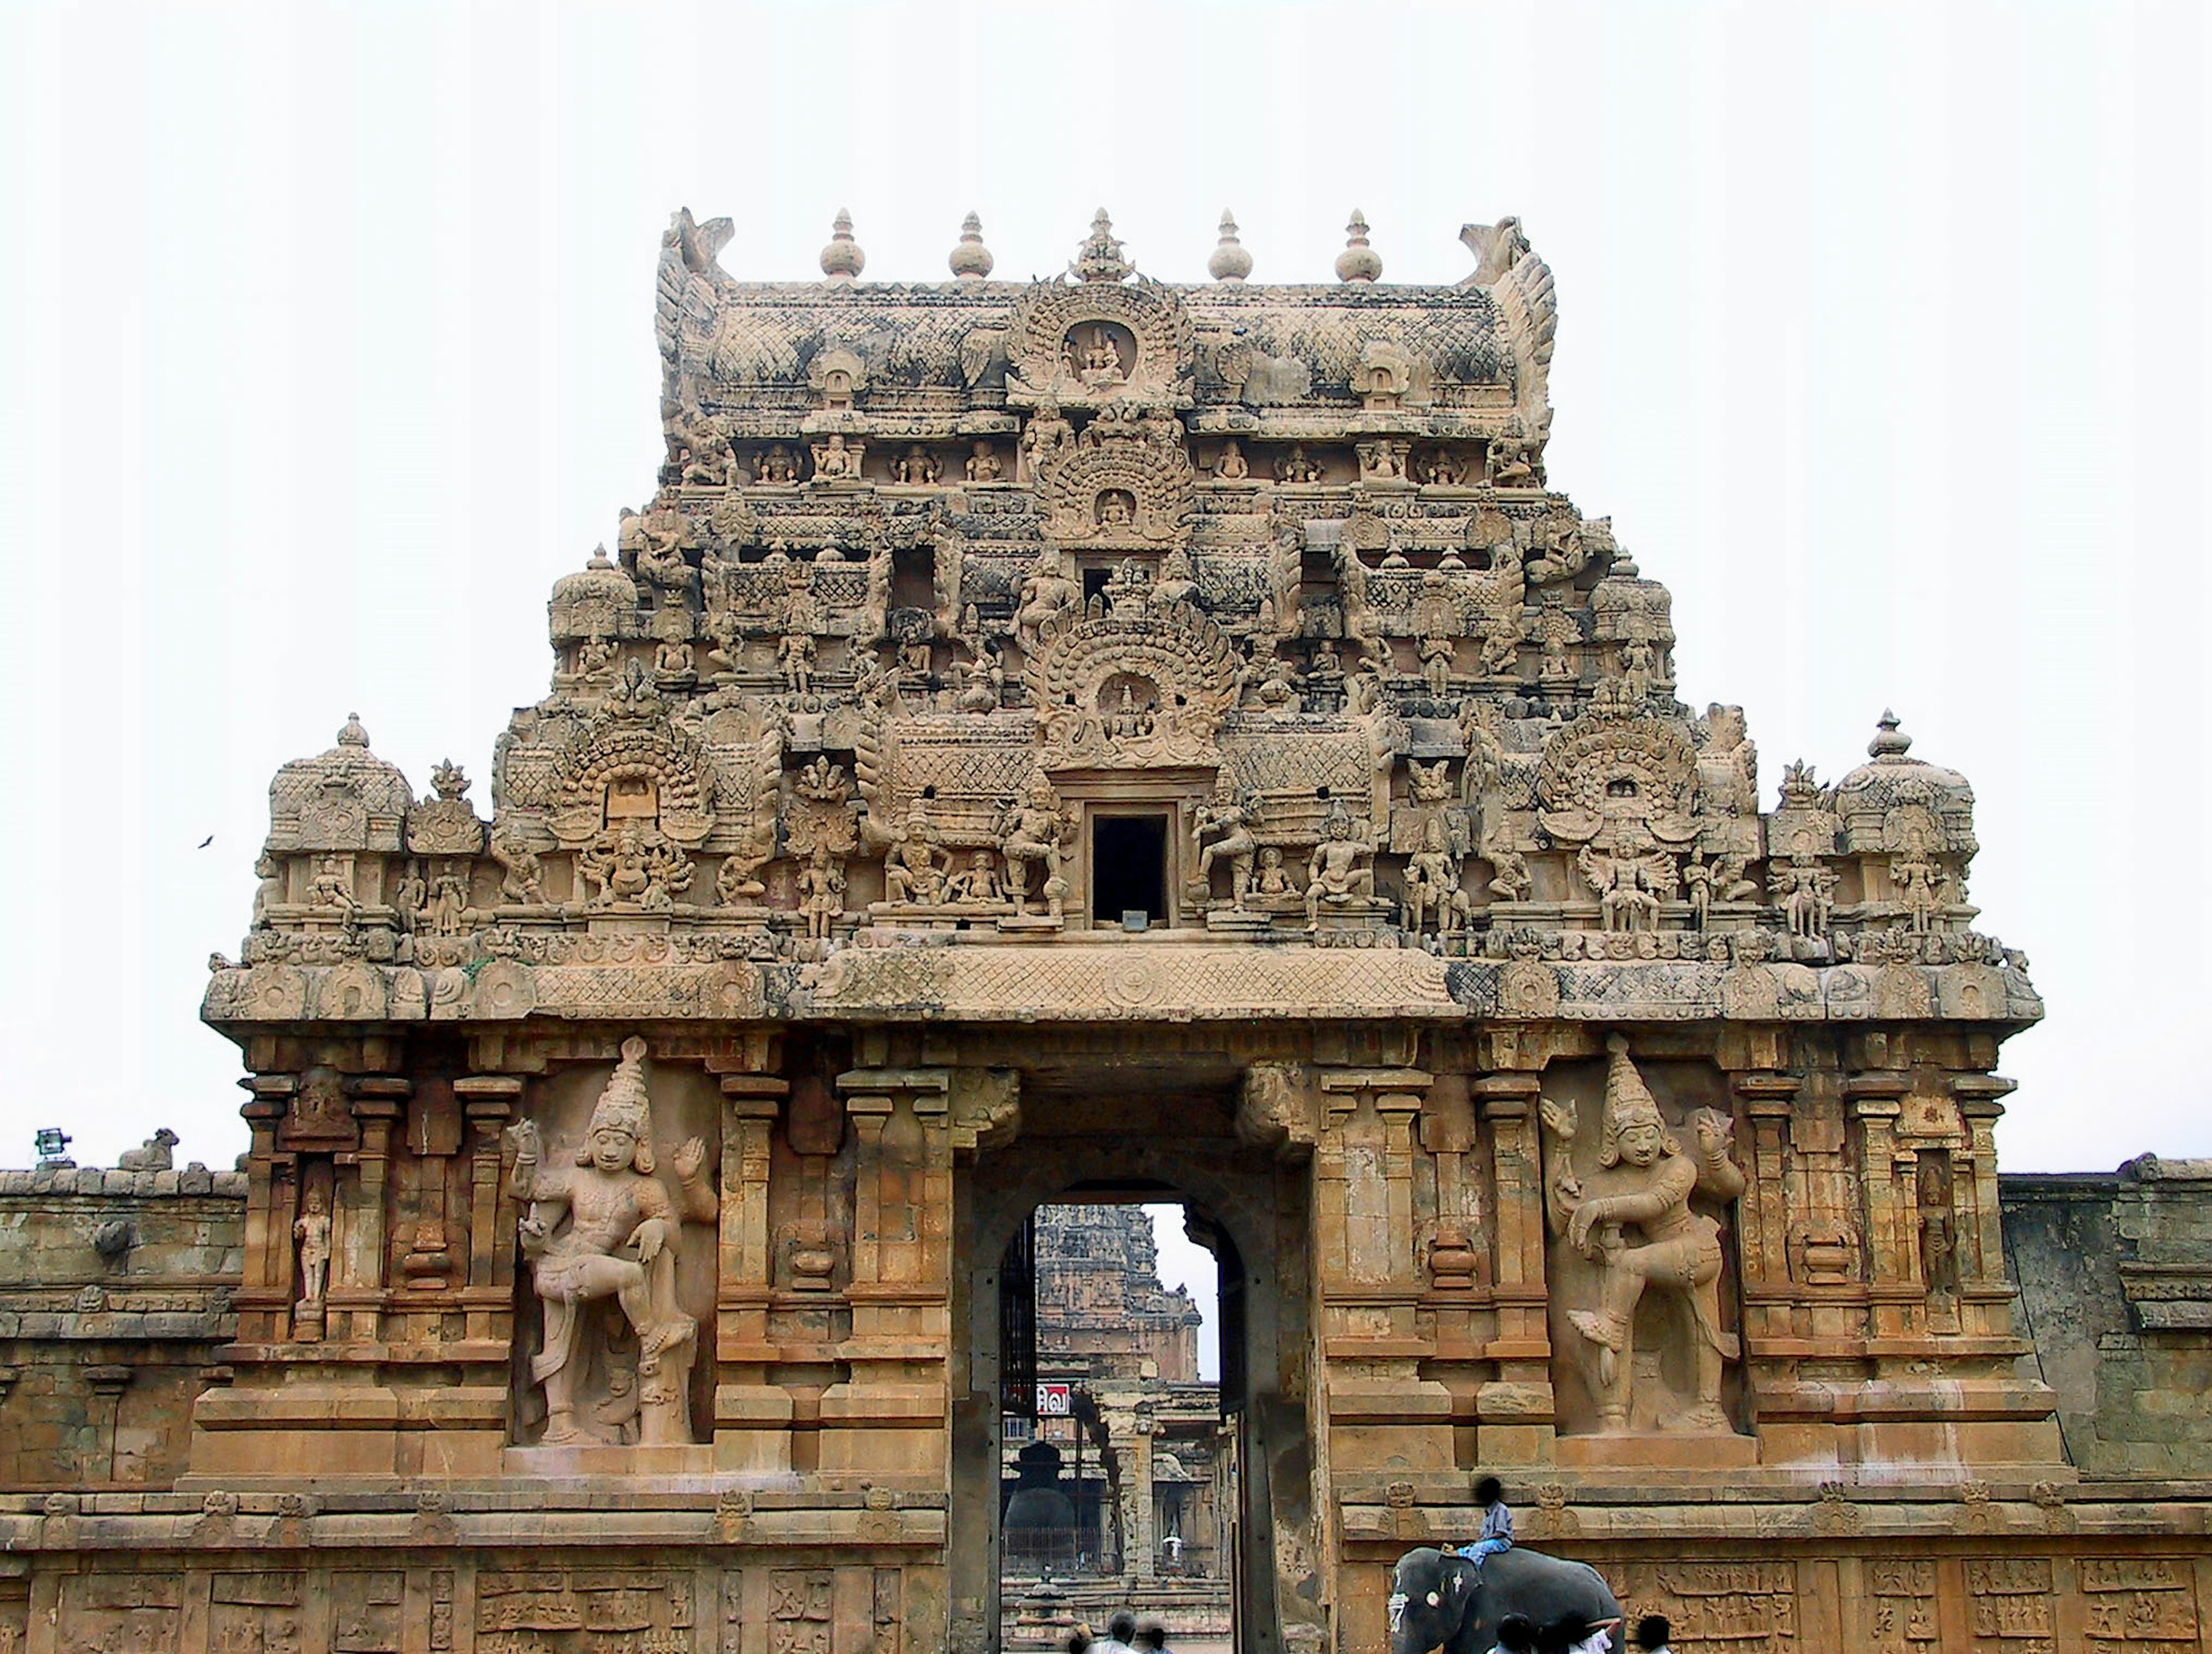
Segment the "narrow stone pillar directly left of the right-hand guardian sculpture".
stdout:
<path fill-rule="evenodd" d="M 1551 1329 L 1544 1320 L 1544 1150 L 1537 1141 L 1540 1075 L 1484 1075 L 1475 1112 L 1491 1134 L 1491 1256 L 1498 1375 L 1475 1391 L 1475 1457 L 1484 1466 L 1553 1462 Z"/>

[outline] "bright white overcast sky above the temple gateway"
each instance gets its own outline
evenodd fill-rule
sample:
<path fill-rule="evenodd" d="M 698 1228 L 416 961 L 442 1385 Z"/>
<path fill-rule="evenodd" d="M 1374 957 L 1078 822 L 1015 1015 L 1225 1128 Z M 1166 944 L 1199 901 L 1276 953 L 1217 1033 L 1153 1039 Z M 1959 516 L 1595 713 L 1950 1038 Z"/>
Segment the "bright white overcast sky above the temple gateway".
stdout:
<path fill-rule="evenodd" d="M 847 206 L 867 276 L 936 281 L 971 208 L 1026 276 L 1102 203 L 1183 281 L 1223 206 L 1294 281 L 1354 206 L 1398 281 L 1517 212 L 1564 312 L 1551 478 L 1672 586 L 1681 694 L 1750 710 L 1763 803 L 1885 705 L 1973 778 L 1980 924 L 2051 1006 L 2004 1163 L 2212 1154 L 2168 882 L 2212 756 L 2205 27 L 0 0 L 0 1163 L 46 1123 L 88 1163 L 243 1145 L 204 962 L 270 774 L 347 712 L 489 807 L 546 588 L 653 489 L 672 208 L 805 279 Z"/>

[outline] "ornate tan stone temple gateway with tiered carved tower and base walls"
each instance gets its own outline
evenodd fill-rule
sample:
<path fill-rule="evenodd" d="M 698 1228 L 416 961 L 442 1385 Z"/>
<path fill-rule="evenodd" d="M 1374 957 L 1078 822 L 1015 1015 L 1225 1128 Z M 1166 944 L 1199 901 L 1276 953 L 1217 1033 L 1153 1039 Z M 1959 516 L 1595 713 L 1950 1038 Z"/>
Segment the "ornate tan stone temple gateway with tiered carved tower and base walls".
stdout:
<path fill-rule="evenodd" d="M 2028 1325 L 1973 792 L 1674 699 L 1517 221 L 728 239 L 482 803 L 354 719 L 276 774 L 241 1172 L 0 1185 L 0 1652 L 1009 1647 L 1066 1203 L 1219 1260 L 1241 1654 L 1383 1650 L 1482 1473 L 1683 1652 L 2208 1647 L 2212 1168 L 2013 1201 Z"/>

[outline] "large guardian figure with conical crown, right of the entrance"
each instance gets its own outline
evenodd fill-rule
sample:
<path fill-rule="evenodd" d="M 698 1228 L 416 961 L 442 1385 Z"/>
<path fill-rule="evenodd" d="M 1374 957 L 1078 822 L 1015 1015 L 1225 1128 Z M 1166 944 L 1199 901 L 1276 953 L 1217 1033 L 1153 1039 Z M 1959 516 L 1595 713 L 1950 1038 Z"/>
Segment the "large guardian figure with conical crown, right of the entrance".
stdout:
<path fill-rule="evenodd" d="M 1663 1422 L 1679 1431 L 1725 1431 L 1721 1364 L 1736 1360 L 1739 1340 L 1721 1327 L 1721 1225 L 1692 1212 L 1690 1196 L 1725 1203 L 1743 1194 L 1743 1170 L 1730 1159 L 1734 1123 L 1717 1110 L 1697 1110 L 1690 1117 L 1697 1148 L 1686 1152 L 1628 1059 L 1628 1039 L 1613 1035 L 1606 1050 L 1606 1119 L 1588 1187 L 1571 1161 L 1575 1106 L 1546 1099 L 1540 1110 L 1555 1139 L 1544 1185 L 1551 1229 L 1599 1274 L 1597 1305 L 1566 1311 L 1595 1351 L 1599 1428 L 1630 1428 L 1637 1305 L 1646 1287 L 1657 1287 L 1690 1313 L 1694 1367 L 1692 1404 Z"/>

